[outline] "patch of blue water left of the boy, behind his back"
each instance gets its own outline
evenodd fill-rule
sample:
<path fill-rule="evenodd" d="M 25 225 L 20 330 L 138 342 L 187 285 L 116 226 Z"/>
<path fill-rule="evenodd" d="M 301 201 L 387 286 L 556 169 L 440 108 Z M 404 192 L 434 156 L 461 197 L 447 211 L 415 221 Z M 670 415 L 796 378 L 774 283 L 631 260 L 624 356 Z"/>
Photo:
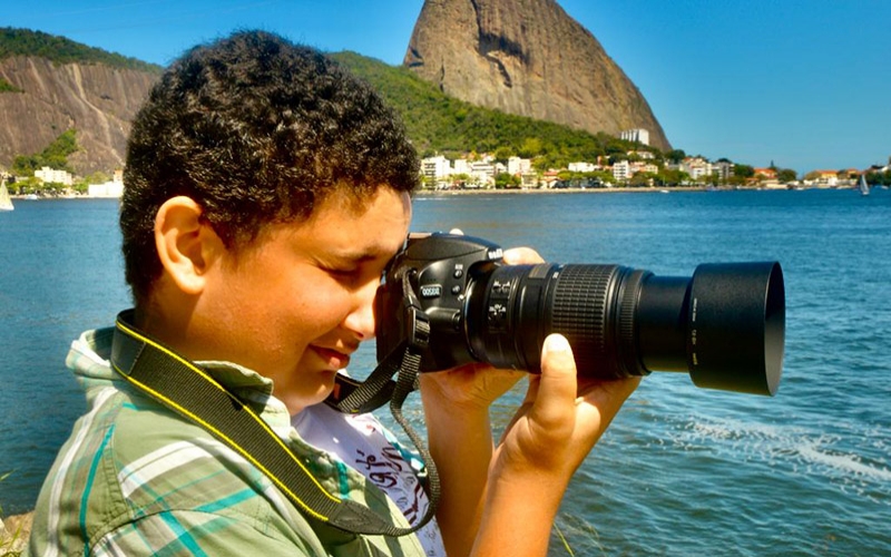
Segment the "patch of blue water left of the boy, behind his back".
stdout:
<path fill-rule="evenodd" d="M 0 218 L 0 506 L 33 508 L 84 394 L 71 340 L 128 305 L 117 201 L 14 201 Z"/>

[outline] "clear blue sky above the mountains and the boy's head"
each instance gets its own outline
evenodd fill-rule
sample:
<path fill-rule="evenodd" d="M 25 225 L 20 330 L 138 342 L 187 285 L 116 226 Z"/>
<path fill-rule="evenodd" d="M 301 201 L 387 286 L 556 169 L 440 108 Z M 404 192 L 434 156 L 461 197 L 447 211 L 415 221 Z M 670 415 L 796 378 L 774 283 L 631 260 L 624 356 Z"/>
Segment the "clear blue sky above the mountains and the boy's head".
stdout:
<path fill-rule="evenodd" d="M 889 0 L 558 0 L 672 146 L 800 175 L 891 157 Z M 236 29 L 400 65 L 423 0 L 0 0 L 0 27 L 167 65 Z"/>

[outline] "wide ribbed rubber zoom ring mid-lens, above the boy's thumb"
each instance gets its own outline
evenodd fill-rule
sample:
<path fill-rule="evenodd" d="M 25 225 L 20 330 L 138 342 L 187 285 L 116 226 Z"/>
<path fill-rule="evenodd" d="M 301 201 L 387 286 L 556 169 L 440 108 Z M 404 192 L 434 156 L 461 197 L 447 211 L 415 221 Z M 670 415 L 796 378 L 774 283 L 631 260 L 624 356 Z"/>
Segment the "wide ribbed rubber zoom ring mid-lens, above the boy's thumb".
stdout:
<path fill-rule="evenodd" d="M 604 329 L 616 265 L 566 265 L 554 293 L 551 324 L 572 345 L 579 372 L 606 355 Z"/>

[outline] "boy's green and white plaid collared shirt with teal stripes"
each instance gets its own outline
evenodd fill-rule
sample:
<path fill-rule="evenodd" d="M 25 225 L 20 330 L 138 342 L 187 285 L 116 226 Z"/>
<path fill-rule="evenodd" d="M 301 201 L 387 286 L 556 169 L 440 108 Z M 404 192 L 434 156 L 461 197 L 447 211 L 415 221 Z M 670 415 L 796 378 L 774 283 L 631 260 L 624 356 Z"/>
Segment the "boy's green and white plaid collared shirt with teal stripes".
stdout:
<path fill-rule="evenodd" d="M 108 362 L 112 334 L 89 331 L 71 345 L 67 364 L 89 411 L 43 483 L 26 555 L 425 555 L 414 535 L 311 525 L 253 465 L 121 380 Z M 227 363 L 202 367 L 254 404 L 325 489 L 405 525 L 373 482 L 300 438 L 267 379 Z"/>

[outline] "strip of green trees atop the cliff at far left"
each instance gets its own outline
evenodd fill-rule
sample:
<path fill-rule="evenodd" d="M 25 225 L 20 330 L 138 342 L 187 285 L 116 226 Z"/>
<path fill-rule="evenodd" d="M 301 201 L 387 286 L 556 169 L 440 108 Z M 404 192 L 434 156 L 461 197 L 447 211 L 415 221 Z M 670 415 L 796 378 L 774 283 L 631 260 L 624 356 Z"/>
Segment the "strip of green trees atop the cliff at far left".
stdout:
<path fill-rule="evenodd" d="M 88 47 L 65 37 L 29 29 L 0 28 L 0 60 L 12 56 L 40 57 L 55 63 L 104 63 L 150 74 L 160 74 L 163 70 L 160 66 Z"/>

